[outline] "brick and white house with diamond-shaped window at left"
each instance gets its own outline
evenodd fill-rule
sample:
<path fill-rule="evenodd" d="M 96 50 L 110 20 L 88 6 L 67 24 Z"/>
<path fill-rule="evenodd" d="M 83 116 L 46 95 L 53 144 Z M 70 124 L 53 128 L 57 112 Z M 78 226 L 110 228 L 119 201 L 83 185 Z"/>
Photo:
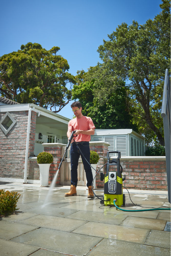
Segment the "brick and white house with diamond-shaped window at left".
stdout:
<path fill-rule="evenodd" d="M 32 103 L 0 97 L 0 179 L 24 178 L 26 183 L 28 157 L 42 152 L 42 143 L 62 143 L 69 120 Z"/>

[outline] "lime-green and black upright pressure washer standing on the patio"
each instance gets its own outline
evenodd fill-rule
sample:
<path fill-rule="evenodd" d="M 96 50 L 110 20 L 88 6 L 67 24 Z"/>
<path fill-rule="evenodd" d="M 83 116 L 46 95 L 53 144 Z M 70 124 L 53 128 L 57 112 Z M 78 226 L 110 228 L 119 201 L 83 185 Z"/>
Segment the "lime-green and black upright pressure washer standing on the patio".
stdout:
<path fill-rule="evenodd" d="M 110 154 L 118 154 L 117 158 L 110 158 Z M 123 180 L 125 180 L 125 175 L 122 177 L 122 167 L 120 165 L 121 153 L 120 151 L 108 151 L 107 152 L 107 168 L 106 173 L 101 173 L 101 180 L 105 180 L 104 196 L 101 200 L 101 204 L 114 206 L 114 199 L 116 205 L 125 205 L 125 195 L 123 194 Z M 110 166 L 113 169 L 117 168 L 117 171 L 110 170 Z"/>

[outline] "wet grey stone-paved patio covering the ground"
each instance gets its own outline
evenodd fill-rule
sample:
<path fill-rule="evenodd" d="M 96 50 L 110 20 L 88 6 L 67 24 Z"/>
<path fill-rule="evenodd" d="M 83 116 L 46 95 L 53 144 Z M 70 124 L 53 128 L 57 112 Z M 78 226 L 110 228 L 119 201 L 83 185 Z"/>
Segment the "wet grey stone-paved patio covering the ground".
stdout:
<path fill-rule="evenodd" d="M 69 188 L 56 187 L 42 208 L 49 187 L 0 182 L 0 189 L 21 194 L 18 213 L 0 219 L 0 256 L 171 255 L 171 232 L 164 231 L 171 211 L 123 212 L 87 198 L 84 186 L 77 187 L 77 196 L 64 197 Z M 103 196 L 103 190 L 94 192 Z M 129 192 L 135 204 L 171 207 L 167 191 Z M 124 193 L 124 209 L 142 209 Z"/>

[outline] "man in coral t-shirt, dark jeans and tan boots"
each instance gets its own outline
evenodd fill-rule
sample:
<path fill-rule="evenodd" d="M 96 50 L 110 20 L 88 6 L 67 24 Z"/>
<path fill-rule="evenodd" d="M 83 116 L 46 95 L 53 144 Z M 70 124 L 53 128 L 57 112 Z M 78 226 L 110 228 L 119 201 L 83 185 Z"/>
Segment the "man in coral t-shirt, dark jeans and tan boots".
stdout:
<path fill-rule="evenodd" d="M 71 107 L 76 118 L 70 120 L 70 122 L 68 123 L 67 136 L 69 139 L 72 131 L 76 131 L 75 135 L 77 135 L 77 137 L 74 138 L 75 142 L 74 140 L 72 140 L 72 144 L 71 144 L 71 149 L 70 149 L 71 187 L 70 187 L 70 191 L 68 193 L 65 193 L 65 196 L 77 195 L 77 192 L 76 192 L 77 181 L 78 181 L 77 167 L 78 167 L 78 160 L 81 155 L 85 173 L 86 173 L 86 179 L 87 179 L 86 186 L 88 187 L 88 197 L 94 197 L 94 194 L 92 192 L 93 175 L 92 175 L 92 169 L 90 166 L 89 141 L 91 138 L 90 135 L 94 135 L 95 126 L 90 117 L 83 116 L 81 112 L 82 111 L 81 103 L 79 101 L 72 103 Z M 79 148 L 81 149 L 82 153 L 79 151 Z M 82 154 L 84 155 L 84 157 Z"/>

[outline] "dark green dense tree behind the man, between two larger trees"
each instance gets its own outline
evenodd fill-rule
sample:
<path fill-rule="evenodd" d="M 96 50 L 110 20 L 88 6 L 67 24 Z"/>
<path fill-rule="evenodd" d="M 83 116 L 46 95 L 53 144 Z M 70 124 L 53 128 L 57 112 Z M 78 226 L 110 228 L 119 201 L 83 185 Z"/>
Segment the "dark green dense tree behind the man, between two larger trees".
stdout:
<path fill-rule="evenodd" d="M 95 71 L 97 67 L 91 68 Z M 88 73 L 88 72 L 87 72 Z M 122 82 L 121 88 L 111 92 L 103 104 L 99 104 L 98 98 L 94 97 L 94 80 L 86 81 L 88 74 L 83 70 L 77 72 L 77 85 L 72 90 L 72 99 L 79 99 L 83 107 L 83 114 L 90 116 L 96 129 L 128 129 L 138 131 L 136 125 L 132 124 L 127 103 L 129 98 Z"/>

